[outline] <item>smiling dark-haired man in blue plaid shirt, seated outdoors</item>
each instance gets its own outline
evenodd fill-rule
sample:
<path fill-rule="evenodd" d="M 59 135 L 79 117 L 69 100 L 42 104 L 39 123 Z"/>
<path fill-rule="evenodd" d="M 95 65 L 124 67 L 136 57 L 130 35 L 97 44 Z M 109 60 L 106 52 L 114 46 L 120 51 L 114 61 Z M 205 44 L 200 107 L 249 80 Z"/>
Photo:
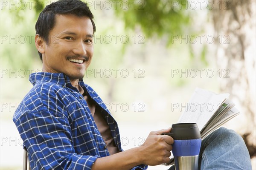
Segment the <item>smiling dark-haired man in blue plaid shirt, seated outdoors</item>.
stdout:
<path fill-rule="evenodd" d="M 35 29 L 43 72 L 30 75 L 34 87 L 13 117 L 32 170 L 146 169 L 147 165 L 170 161 L 173 139 L 160 135 L 170 128 L 151 132 L 142 146 L 123 151 L 116 121 L 96 92 L 84 84 L 82 79 L 93 57 L 96 31 L 86 3 L 60 0 L 48 5 L 39 15 Z M 220 134 L 225 137 L 232 133 L 221 130 L 211 139 L 218 139 L 217 144 L 221 143 Z M 236 134 L 229 137 L 232 136 L 241 144 L 242 139 Z M 212 143 L 207 141 L 204 147 Z M 235 152 L 236 148 L 233 149 Z M 214 150 L 221 148 L 209 151 Z M 207 153 L 206 149 L 203 151 Z M 239 154 L 247 158 L 248 152 L 240 149 Z M 248 160 L 244 162 L 246 167 Z"/>

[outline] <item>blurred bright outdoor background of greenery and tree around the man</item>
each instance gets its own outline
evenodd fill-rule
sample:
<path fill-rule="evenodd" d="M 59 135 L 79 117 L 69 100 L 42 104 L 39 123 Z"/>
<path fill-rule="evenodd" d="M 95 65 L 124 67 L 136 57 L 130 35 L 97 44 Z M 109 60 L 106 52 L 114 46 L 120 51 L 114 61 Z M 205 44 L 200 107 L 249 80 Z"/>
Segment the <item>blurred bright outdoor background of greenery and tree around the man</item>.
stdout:
<path fill-rule="evenodd" d="M 41 72 L 35 23 L 52 0 L 0 1 L 0 169 L 20 170 L 12 116 Z M 196 87 L 229 93 L 240 114 L 224 127 L 247 144 L 256 169 L 255 0 L 91 0 L 94 56 L 84 82 L 119 123 L 123 149 L 176 123 Z M 174 107 L 175 105 L 175 107 Z M 149 166 L 148 169 L 168 169 Z"/>

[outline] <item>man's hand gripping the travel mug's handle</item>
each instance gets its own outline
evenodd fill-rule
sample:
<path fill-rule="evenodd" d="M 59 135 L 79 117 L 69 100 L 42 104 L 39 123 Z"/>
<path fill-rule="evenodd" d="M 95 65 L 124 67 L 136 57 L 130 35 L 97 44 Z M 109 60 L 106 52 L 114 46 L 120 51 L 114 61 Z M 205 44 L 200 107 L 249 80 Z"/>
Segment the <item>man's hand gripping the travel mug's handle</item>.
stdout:
<path fill-rule="evenodd" d="M 171 136 L 161 135 L 162 133 L 169 133 L 171 128 L 149 133 L 144 144 L 138 149 L 141 153 L 143 164 L 158 165 L 170 161 L 171 150 L 174 140 Z"/>

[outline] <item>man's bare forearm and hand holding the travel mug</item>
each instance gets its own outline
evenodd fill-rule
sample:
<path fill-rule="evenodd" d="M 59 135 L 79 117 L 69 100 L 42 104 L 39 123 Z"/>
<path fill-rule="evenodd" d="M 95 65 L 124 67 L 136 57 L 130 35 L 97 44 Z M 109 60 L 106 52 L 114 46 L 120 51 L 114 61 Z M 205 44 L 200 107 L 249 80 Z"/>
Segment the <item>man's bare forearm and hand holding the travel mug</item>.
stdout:
<path fill-rule="evenodd" d="M 140 164 L 158 165 L 170 161 L 170 151 L 174 140 L 169 133 L 171 128 L 149 133 L 144 144 L 123 152 L 96 159 L 92 170 L 129 170 Z"/>

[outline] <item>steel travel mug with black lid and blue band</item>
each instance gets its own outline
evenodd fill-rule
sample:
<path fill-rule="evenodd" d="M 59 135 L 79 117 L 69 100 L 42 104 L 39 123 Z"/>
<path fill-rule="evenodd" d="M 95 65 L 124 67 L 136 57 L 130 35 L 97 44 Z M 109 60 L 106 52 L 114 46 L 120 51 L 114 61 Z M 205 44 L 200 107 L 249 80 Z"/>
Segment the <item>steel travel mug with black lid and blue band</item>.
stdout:
<path fill-rule="evenodd" d="M 198 158 L 201 147 L 201 134 L 196 123 L 177 123 L 172 125 L 172 153 L 175 170 L 198 170 Z"/>

